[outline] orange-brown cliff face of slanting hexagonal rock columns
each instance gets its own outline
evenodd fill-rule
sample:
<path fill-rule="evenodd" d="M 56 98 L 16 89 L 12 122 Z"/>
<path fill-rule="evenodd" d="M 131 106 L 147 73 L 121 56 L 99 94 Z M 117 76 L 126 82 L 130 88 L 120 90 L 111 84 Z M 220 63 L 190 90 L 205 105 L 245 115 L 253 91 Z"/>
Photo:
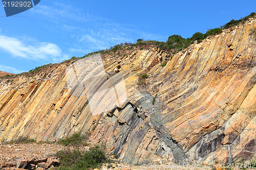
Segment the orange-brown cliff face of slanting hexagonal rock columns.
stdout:
<path fill-rule="evenodd" d="M 91 142 L 106 144 L 122 162 L 255 159 L 255 21 L 193 44 L 172 60 L 150 46 L 104 55 L 104 67 L 61 63 L 2 82 L 0 139 L 56 140 L 91 131 Z M 109 79 L 117 72 L 121 78 Z"/>

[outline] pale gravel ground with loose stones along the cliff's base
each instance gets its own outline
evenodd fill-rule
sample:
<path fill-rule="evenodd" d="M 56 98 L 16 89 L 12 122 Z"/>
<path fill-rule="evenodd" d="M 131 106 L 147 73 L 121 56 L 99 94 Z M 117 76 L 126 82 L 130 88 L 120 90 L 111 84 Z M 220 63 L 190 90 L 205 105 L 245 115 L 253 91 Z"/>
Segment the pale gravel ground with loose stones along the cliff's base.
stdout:
<path fill-rule="evenodd" d="M 72 147 L 65 147 L 63 145 L 55 143 L 27 143 L 27 144 L 0 144 L 0 164 L 10 163 L 16 164 L 18 161 L 24 159 L 36 159 L 42 160 L 53 156 L 57 151 L 73 149 Z M 80 147 L 80 150 L 88 151 L 89 147 Z M 9 169 L 9 168 L 8 168 Z M 10 168 L 11 169 L 11 168 Z M 212 166 L 202 165 L 202 164 L 177 164 L 175 162 L 169 162 L 168 164 L 154 164 L 154 165 L 130 165 L 123 163 L 111 163 L 103 164 L 100 168 L 102 170 L 142 170 L 142 169 L 156 169 L 156 170 L 167 170 L 167 169 L 214 169 Z M 216 170 L 221 170 L 224 168 L 215 168 Z M 239 168 L 232 168 L 234 170 Z M 96 169 L 98 170 L 98 169 Z M 247 169 L 249 170 L 249 169 Z M 255 170 L 255 168 L 254 168 Z"/>

